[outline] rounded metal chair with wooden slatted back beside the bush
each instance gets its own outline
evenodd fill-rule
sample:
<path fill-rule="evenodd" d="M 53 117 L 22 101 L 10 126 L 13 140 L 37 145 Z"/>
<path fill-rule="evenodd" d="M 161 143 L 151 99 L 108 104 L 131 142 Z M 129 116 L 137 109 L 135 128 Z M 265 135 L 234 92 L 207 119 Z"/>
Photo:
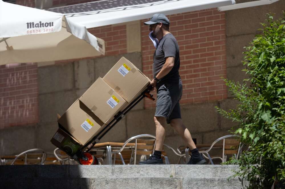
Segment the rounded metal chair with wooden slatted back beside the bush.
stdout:
<path fill-rule="evenodd" d="M 201 154 L 203 154 L 203 156 L 206 158 L 206 159 L 209 159 L 210 163 L 212 165 L 214 165 L 213 163 L 213 160 L 212 159 L 221 159 L 222 163 L 226 161 L 227 159 L 227 155 L 231 154 L 231 155 L 234 155 L 236 159 L 239 158 L 239 155 L 241 153 L 241 148 L 242 148 L 242 145 L 241 143 L 239 142 L 238 144 L 233 141 L 237 141 L 237 139 L 232 139 L 232 140 L 229 140 L 229 139 L 226 139 L 226 138 L 230 138 L 230 137 L 240 137 L 238 135 L 226 135 L 226 136 L 222 136 L 220 138 L 218 138 L 217 140 L 215 140 L 209 149 L 205 150 L 205 151 L 200 151 Z M 223 140 L 223 155 L 222 157 L 211 157 L 209 155 L 209 151 L 213 148 L 213 146 L 219 142 Z M 228 142 L 226 142 L 228 141 Z M 238 146 L 238 149 L 236 149 Z M 233 149 L 234 148 L 234 149 Z M 189 149 L 186 149 L 185 150 L 185 154 L 186 154 L 186 161 L 188 162 L 189 161 Z M 206 155 L 205 155 L 206 154 Z"/>

